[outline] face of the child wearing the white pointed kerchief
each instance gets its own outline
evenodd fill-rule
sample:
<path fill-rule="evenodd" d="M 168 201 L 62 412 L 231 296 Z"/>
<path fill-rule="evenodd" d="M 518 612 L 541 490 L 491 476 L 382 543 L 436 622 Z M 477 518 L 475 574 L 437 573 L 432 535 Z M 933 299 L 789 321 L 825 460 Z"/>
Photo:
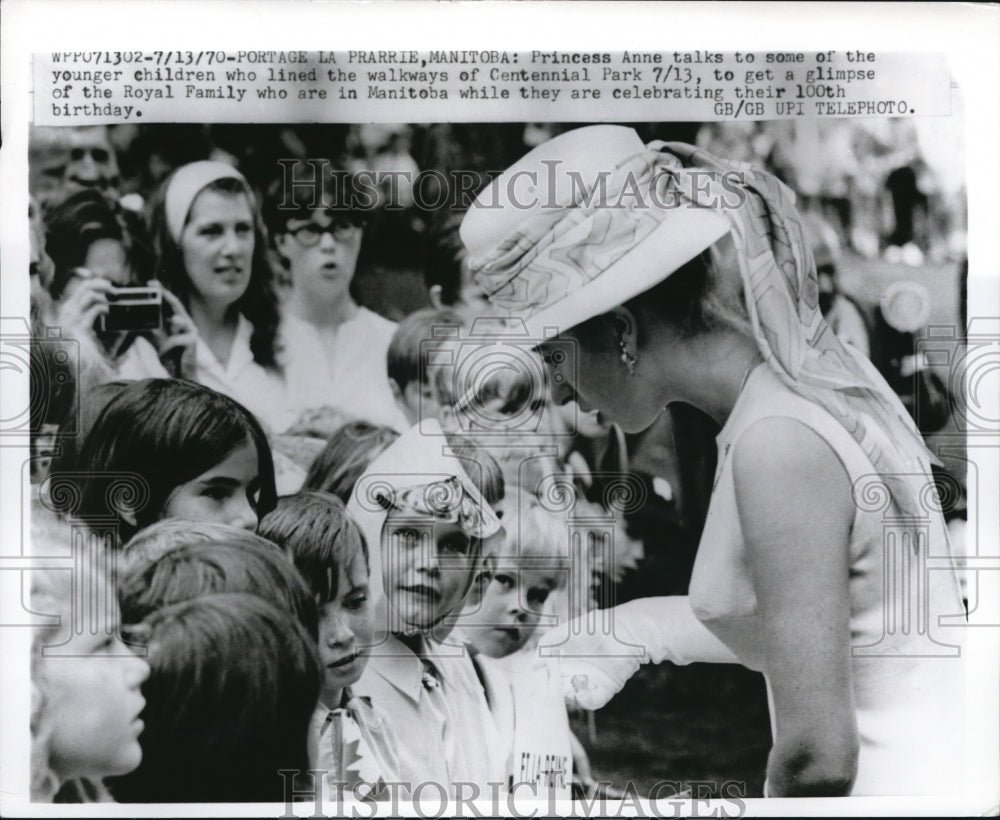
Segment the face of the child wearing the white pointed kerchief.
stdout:
<path fill-rule="evenodd" d="M 386 598 L 406 625 L 426 631 L 458 610 L 477 563 L 458 524 L 390 510 L 382 527 Z"/>

